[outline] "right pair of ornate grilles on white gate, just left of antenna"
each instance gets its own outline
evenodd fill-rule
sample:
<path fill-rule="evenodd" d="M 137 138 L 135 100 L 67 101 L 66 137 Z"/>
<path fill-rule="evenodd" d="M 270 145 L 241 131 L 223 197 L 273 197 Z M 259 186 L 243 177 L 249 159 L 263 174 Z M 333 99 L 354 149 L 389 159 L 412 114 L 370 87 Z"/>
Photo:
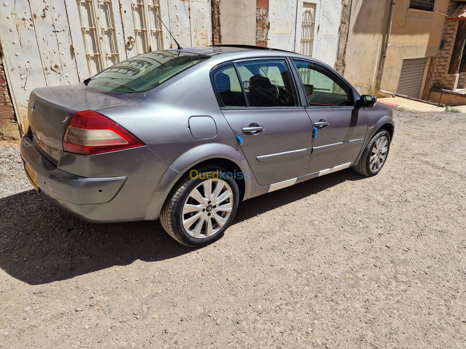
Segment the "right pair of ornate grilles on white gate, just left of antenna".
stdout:
<path fill-rule="evenodd" d="M 164 48 L 159 0 L 131 0 L 137 54 Z"/>

